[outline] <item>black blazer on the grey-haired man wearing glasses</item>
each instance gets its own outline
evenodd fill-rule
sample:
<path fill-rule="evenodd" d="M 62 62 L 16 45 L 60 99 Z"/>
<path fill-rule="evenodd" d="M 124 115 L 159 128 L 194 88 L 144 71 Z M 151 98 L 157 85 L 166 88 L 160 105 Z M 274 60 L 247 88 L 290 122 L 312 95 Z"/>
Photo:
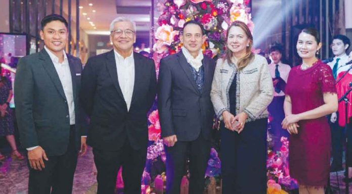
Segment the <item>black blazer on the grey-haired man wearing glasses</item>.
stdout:
<path fill-rule="evenodd" d="M 134 149 L 148 146 L 147 112 L 156 94 L 154 61 L 134 53 L 135 85 L 129 111 L 121 92 L 114 50 L 89 58 L 82 73 L 81 101 L 91 117 L 87 143 L 118 150 L 128 139 Z"/>

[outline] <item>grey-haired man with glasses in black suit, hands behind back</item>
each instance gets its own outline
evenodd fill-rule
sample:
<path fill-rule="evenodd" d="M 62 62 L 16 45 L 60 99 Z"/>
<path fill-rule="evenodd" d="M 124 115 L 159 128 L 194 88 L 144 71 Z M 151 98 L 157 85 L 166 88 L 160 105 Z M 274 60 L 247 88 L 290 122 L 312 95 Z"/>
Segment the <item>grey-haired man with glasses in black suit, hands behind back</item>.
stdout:
<path fill-rule="evenodd" d="M 93 147 L 99 194 L 115 193 L 120 166 L 124 193 L 141 193 L 156 74 L 152 59 L 133 52 L 135 30 L 126 18 L 113 20 L 114 49 L 91 57 L 82 73 L 81 101 L 91 117 L 87 143 Z"/>

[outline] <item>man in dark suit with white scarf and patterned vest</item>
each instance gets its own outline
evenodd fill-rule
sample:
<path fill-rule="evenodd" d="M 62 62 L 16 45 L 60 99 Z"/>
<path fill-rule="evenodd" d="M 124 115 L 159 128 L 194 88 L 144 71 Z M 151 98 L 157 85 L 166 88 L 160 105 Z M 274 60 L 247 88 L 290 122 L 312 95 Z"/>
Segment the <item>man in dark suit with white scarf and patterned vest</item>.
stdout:
<path fill-rule="evenodd" d="M 199 23 L 186 22 L 180 39 L 182 51 L 161 59 L 159 70 L 158 109 L 167 146 L 166 193 L 180 193 L 189 157 L 189 192 L 201 194 L 210 154 L 214 115 L 210 89 L 215 62 L 202 54 L 205 36 Z"/>

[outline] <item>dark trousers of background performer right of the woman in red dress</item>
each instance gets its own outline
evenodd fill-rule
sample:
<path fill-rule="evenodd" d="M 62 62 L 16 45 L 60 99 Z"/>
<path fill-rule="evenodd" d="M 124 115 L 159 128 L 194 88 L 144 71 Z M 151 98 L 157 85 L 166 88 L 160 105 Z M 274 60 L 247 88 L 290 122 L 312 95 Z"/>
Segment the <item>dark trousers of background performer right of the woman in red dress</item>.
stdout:
<path fill-rule="evenodd" d="M 331 114 L 328 116 L 328 122 L 331 131 L 331 146 L 332 146 L 332 163 L 333 168 L 342 168 L 342 142 L 343 142 L 343 127 L 338 124 L 339 114 L 337 113 L 337 119 L 334 123 L 330 121 Z"/>

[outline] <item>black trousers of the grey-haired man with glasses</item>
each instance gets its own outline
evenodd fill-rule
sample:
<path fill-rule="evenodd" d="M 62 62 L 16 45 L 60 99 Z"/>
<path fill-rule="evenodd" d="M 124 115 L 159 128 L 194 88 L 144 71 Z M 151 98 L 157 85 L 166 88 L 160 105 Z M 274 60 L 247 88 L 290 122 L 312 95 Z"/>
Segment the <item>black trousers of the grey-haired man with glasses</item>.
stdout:
<path fill-rule="evenodd" d="M 147 147 L 134 150 L 128 140 L 117 151 L 93 148 L 97 166 L 98 194 L 114 194 L 117 172 L 122 166 L 124 194 L 140 194 L 141 179 L 146 164 Z"/>

